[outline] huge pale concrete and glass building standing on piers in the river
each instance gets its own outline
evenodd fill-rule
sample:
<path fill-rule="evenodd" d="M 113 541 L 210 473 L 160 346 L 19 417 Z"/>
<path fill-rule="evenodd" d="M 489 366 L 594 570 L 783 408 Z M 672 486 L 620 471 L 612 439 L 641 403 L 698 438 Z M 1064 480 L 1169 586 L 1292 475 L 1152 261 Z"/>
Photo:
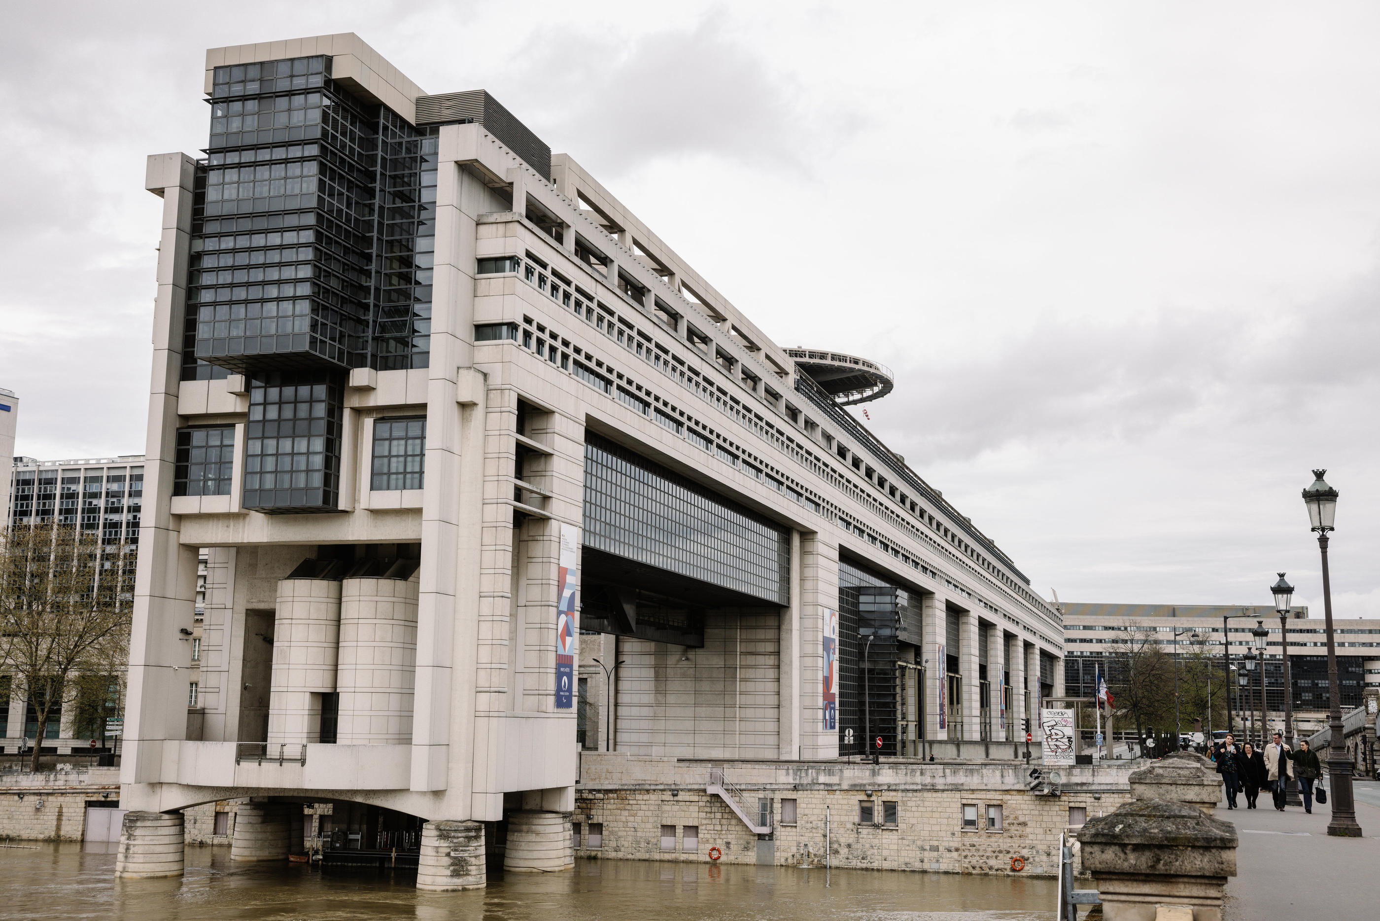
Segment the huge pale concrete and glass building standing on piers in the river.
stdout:
<path fill-rule="evenodd" d="M 845 409 L 886 369 L 774 344 L 491 95 L 353 35 L 214 48 L 206 94 L 204 156 L 148 166 L 120 873 L 236 797 L 240 859 L 331 802 L 421 886 L 566 867 L 581 688 L 588 748 L 1016 755 L 1063 626 Z"/>

